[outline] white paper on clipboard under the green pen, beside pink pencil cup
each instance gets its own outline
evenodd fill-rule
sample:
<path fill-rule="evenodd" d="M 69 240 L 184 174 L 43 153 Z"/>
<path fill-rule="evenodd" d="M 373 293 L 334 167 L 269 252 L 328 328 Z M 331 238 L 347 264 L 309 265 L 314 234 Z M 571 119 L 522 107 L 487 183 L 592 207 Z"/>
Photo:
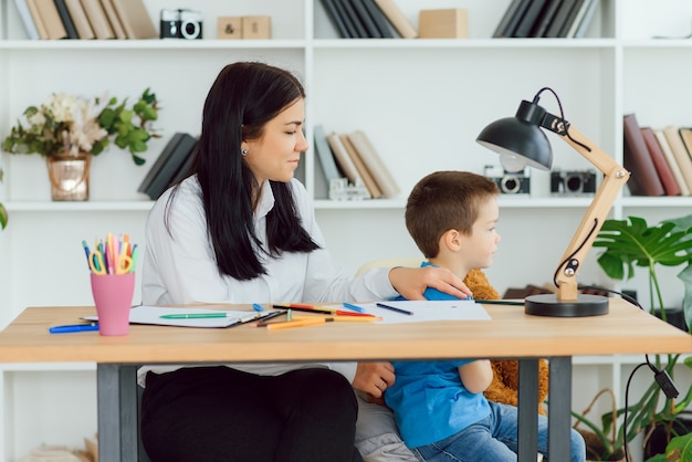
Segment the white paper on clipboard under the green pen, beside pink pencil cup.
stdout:
<path fill-rule="evenodd" d="M 273 311 L 264 312 L 244 312 L 238 309 L 208 309 L 208 308 L 190 308 L 174 306 L 134 306 L 129 311 L 130 324 L 156 324 L 160 326 L 178 326 L 178 327 L 229 327 L 238 323 L 247 323 L 259 319 Z M 202 318 L 182 318 L 166 319 L 161 318 L 169 314 L 207 314 L 207 313 L 226 313 L 226 317 L 202 317 Z M 97 316 L 86 316 L 85 319 L 98 321 Z"/>

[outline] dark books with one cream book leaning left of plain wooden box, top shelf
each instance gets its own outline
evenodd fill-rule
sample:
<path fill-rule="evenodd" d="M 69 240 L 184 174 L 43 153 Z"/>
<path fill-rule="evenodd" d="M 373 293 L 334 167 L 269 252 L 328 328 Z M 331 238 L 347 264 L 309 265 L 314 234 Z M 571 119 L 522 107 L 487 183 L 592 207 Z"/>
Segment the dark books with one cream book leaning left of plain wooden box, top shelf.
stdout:
<path fill-rule="evenodd" d="M 418 32 L 394 0 L 321 0 L 344 39 L 413 39 Z"/>

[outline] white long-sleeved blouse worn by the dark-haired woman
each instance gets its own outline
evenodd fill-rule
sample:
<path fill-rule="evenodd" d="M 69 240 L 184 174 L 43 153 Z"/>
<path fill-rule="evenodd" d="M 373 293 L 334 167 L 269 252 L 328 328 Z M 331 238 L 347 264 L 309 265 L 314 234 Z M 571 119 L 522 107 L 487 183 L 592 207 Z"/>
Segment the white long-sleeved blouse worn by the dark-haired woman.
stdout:
<path fill-rule="evenodd" d="M 370 270 L 353 279 L 334 264 L 324 237 L 315 221 L 312 200 L 303 185 L 290 182 L 303 228 L 321 249 L 310 253 L 286 252 L 279 258 L 262 255 L 266 274 L 250 281 L 221 275 L 207 232 L 207 221 L 197 177 L 186 179 L 172 201 L 171 189 L 156 201 L 146 223 L 146 249 L 143 265 L 141 297 L 145 305 L 192 303 L 327 303 L 391 298 L 397 294 L 387 269 Z M 266 214 L 274 207 L 269 181 L 262 185 L 254 214 L 255 235 L 266 243 Z M 169 210 L 170 209 L 170 210 Z M 162 327 L 164 328 L 164 327 Z M 322 363 L 343 374 L 355 376 L 353 363 Z M 277 375 L 287 370 L 315 367 L 316 364 L 233 364 L 235 369 Z M 180 366 L 140 368 L 140 384 L 147 370 L 161 374 Z"/>

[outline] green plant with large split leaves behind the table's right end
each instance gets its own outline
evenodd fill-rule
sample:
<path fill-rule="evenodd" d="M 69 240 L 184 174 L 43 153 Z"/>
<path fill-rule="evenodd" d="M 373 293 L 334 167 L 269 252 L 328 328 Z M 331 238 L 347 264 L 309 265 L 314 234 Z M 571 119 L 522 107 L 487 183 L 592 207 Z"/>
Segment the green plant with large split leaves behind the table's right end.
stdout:
<path fill-rule="evenodd" d="M 683 266 L 678 277 L 684 284 L 682 309 L 685 324 L 690 326 L 692 321 L 692 214 L 663 220 L 652 227 L 638 217 L 629 217 L 629 220 L 606 220 L 594 246 L 604 249 L 598 256 L 598 263 L 614 280 L 628 280 L 633 276 L 637 267 L 647 269 L 650 287 L 649 309 L 652 313 L 660 312 L 663 321 L 667 321 L 668 316 L 656 271 L 657 265 Z M 665 360 L 657 355 L 653 365 L 657 370 L 664 371 L 673 378 L 674 366 L 679 359 L 680 355 L 667 355 Z M 690 359 L 685 360 L 685 364 L 692 367 Z M 642 431 L 647 431 L 646 444 L 654 426 L 667 423 L 672 427 L 672 422 L 680 418 L 681 412 L 692 401 L 692 386 L 688 387 L 679 401 L 665 398 L 663 405 L 659 406 L 661 392 L 658 382 L 652 380 L 652 385 L 639 401 L 627 407 L 627 428 L 622 426 L 618 430 L 617 447 L 623 445 L 625 441 L 631 442 Z M 618 409 L 616 418 L 621 418 L 623 413 L 625 409 Z M 587 420 L 583 416 L 575 414 L 575 417 L 579 421 Z M 616 423 L 612 413 L 608 412 L 602 416 L 600 428 L 594 426 L 593 422 L 589 428 L 594 431 L 599 430 L 597 434 L 605 437 Z"/>

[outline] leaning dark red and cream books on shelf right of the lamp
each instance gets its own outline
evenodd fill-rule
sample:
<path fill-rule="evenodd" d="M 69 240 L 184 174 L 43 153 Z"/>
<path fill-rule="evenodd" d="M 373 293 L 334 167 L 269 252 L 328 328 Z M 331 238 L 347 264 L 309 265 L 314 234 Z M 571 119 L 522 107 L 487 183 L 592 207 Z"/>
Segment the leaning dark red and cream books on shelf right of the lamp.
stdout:
<path fill-rule="evenodd" d="M 632 196 L 692 195 L 692 128 L 640 126 L 635 114 L 627 114 L 622 132 Z"/>

